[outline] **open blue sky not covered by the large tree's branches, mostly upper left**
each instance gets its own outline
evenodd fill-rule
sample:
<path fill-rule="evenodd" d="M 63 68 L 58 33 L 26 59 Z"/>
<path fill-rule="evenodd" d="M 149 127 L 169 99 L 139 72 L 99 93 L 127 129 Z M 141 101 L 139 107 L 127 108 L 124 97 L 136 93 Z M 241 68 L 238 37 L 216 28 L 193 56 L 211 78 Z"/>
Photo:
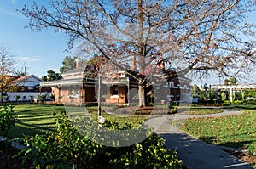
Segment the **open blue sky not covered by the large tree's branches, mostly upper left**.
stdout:
<path fill-rule="evenodd" d="M 32 0 L 0 0 L 0 45 L 5 44 L 12 49 L 18 67 L 26 65 L 26 72 L 29 75 L 41 77 L 46 75 L 47 70 L 59 72 L 63 58 L 72 54 L 64 52 L 67 48 L 67 38 L 64 34 L 55 33 L 50 29 L 32 32 L 29 28 L 25 28 L 28 21 L 16 9 L 23 8 L 25 4 L 31 6 L 32 2 Z M 47 4 L 49 1 L 37 2 Z M 255 20 L 255 15 L 250 20 Z M 218 83 L 219 79 L 218 76 L 205 78 L 196 83 L 205 82 Z M 255 83 L 256 70 L 244 82 Z"/>

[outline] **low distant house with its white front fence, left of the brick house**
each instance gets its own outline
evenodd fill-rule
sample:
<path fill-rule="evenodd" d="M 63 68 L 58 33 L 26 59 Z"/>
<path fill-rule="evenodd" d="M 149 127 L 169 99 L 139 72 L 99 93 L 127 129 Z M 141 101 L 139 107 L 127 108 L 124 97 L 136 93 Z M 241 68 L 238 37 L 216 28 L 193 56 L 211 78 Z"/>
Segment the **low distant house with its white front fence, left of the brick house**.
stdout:
<path fill-rule="evenodd" d="M 40 82 L 44 82 L 41 78 L 35 75 L 20 76 L 12 82 L 16 87 L 15 92 L 8 92 L 4 96 L 4 101 L 15 101 L 15 96 L 20 96 L 20 101 L 32 101 L 38 99 L 38 95 L 43 93 L 49 95 L 50 87 L 40 87 Z"/>

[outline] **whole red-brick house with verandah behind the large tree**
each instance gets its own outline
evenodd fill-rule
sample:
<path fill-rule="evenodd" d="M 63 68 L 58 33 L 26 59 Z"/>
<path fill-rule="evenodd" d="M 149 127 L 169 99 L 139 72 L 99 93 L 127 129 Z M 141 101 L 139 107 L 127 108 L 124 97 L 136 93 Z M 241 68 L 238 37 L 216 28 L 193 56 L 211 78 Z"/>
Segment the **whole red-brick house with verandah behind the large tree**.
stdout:
<path fill-rule="evenodd" d="M 55 101 L 63 104 L 96 103 L 97 78 L 96 74 L 90 75 L 88 66 L 76 67 L 62 74 L 61 80 L 40 82 L 40 86 L 51 87 L 51 93 L 55 95 Z M 134 70 L 134 67 L 131 67 L 132 69 Z M 137 103 L 137 80 L 125 70 L 115 70 L 112 74 L 114 75 L 110 80 L 106 77 L 101 80 L 101 101 L 106 104 Z M 172 82 L 166 81 L 158 95 L 165 103 L 168 101 L 189 102 L 189 93 L 189 79 L 175 78 Z M 149 90 L 146 91 L 145 96 L 148 102 L 154 101 L 151 97 L 152 94 Z"/>

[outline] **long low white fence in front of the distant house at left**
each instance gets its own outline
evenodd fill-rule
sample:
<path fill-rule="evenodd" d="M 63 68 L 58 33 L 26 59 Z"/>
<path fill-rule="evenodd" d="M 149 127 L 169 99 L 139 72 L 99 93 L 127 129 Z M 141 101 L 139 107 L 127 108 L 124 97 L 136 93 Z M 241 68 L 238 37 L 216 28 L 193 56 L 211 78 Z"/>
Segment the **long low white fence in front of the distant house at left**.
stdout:
<path fill-rule="evenodd" d="M 49 99 L 49 95 L 51 94 L 49 93 L 35 93 L 35 92 L 12 92 L 12 93 L 7 93 L 7 96 L 3 97 L 3 101 L 6 102 L 7 100 L 9 101 L 16 101 L 15 96 L 19 95 L 20 99 L 18 99 L 18 101 L 31 101 L 34 99 L 38 99 L 38 95 L 42 95 L 42 94 L 47 94 L 47 98 Z"/>

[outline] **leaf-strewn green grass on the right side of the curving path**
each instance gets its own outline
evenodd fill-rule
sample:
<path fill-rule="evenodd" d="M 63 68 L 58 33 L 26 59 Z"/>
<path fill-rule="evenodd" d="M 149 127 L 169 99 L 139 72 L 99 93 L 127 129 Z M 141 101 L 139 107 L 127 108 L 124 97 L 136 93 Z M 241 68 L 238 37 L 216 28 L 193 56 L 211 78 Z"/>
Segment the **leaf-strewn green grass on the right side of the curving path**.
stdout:
<path fill-rule="evenodd" d="M 242 111 L 241 115 L 189 118 L 181 129 L 210 144 L 247 149 L 256 143 L 256 110 Z"/>

